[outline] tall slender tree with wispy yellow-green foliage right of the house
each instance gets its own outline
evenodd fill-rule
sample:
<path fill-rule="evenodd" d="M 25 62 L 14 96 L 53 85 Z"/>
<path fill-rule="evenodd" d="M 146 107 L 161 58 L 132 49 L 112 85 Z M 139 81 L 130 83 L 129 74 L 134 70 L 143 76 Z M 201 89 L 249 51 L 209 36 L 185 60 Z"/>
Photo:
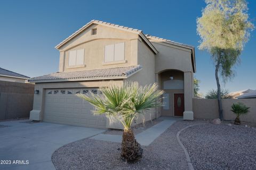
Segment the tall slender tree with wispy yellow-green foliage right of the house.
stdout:
<path fill-rule="evenodd" d="M 249 21 L 245 0 L 205 0 L 202 16 L 197 18 L 197 33 L 201 37 L 199 49 L 211 54 L 215 65 L 219 117 L 222 120 L 221 88 L 223 82 L 234 77 L 245 43 L 254 25 Z"/>

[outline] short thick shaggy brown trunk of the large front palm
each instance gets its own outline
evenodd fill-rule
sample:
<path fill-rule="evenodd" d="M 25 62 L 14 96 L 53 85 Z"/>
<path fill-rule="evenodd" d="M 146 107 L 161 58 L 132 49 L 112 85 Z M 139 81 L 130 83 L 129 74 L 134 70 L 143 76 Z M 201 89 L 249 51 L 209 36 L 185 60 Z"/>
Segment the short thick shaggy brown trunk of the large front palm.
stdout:
<path fill-rule="evenodd" d="M 143 149 L 134 137 L 132 129 L 124 130 L 121 156 L 129 163 L 137 162 L 142 158 Z"/>

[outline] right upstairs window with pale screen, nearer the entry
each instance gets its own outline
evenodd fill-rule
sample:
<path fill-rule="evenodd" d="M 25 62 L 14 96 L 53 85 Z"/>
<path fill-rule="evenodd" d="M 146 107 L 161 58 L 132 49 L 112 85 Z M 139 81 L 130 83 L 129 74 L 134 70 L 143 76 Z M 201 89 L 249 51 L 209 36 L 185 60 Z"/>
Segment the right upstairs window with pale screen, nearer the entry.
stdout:
<path fill-rule="evenodd" d="M 124 61 L 124 43 L 105 46 L 104 62 Z"/>

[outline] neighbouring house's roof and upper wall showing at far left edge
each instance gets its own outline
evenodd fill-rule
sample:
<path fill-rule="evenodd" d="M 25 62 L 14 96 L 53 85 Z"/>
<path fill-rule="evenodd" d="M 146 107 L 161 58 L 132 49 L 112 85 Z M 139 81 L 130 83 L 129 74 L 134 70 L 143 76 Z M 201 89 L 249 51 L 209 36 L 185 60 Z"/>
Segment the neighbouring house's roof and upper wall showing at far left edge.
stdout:
<path fill-rule="evenodd" d="M 30 79 L 26 75 L 15 73 L 10 70 L 6 70 L 0 67 L 0 81 L 11 81 L 25 83 L 26 80 Z"/>

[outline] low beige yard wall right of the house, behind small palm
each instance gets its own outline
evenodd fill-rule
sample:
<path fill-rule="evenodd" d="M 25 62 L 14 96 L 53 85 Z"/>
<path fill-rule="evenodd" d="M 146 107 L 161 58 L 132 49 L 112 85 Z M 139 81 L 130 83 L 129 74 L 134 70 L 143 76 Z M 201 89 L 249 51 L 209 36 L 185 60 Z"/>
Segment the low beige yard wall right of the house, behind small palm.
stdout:
<path fill-rule="evenodd" d="M 235 120 L 235 114 L 230 110 L 231 105 L 237 102 L 251 107 L 249 114 L 241 116 L 241 121 L 256 123 L 256 99 L 222 99 L 223 119 Z M 193 98 L 193 110 L 195 118 L 213 119 L 219 117 L 217 99 Z"/>

